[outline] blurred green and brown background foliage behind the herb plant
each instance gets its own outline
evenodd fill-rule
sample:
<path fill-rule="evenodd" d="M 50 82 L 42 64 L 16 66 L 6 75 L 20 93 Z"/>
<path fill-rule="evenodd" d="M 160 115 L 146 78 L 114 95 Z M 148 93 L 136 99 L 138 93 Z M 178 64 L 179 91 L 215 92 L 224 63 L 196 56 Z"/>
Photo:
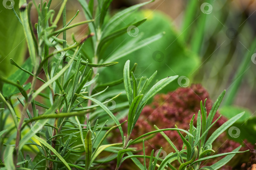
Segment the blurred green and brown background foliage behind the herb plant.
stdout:
<path fill-rule="evenodd" d="M 37 3 L 39 2 L 38 0 Z M 61 2 L 53 1 L 51 8 L 58 10 Z M 113 0 L 108 14 L 113 16 L 120 9 L 141 2 L 145 1 Z M 15 0 L 15 3 L 18 4 L 18 1 Z M 210 6 L 202 8 L 203 3 L 209 3 Z M 21 65 L 28 57 L 28 53 L 20 23 L 17 22 L 12 10 L 4 8 L 3 5 L 0 6 L 0 15 L 3 19 L 0 20 L 0 74 L 8 77 L 16 71 L 10 69 L 14 67 L 9 59 L 13 58 Z M 15 6 L 15 10 L 17 8 L 18 5 Z M 70 20 L 78 9 L 80 13 L 73 22 L 85 20 L 81 6 L 73 0 L 67 3 L 67 20 Z M 121 28 L 131 23 L 135 16 L 137 20 L 147 18 L 142 25 L 138 26 L 139 32 L 135 37 L 124 34 L 114 39 L 107 46 L 106 51 L 101 53 L 101 58 L 103 61 L 108 61 L 115 54 L 116 48 L 122 47 L 125 41 L 132 38 L 142 40 L 158 33 L 162 33 L 163 37 L 124 58 L 115 60 L 119 64 L 99 69 L 99 80 L 106 83 L 122 78 L 123 65 L 127 59 L 130 59 L 131 63 L 138 63 L 135 72 L 137 77 L 142 75 L 149 77 L 155 70 L 158 71 L 158 80 L 173 75 L 186 76 L 190 84 L 201 83 L 209 91 L 213 100 L 223 89 L 226 89 L 227 94 L 220 113 L 230 118 L 246 110 L 245 116 L 235 124 L 241 129 L 240 137 L 235 140 L 241 142 L 239 140 L 248 138 L 253 143 L 255 139 L 252 137 L 256 136 L 254 118 L 256 65 L 251 56 L 256 53 L 255 9 L 256 2 L 253 0 L 156 0 L 120 21 L 118 27 Z M 34 25 L 37 20 L 34 6 L 31 13 Z M 59 27 L 62 27 L 61 23 Z M 81 39 L 88 33 L 88 27 L 81 25 L 68 30 L 68 40 L 71 40 L 72 33 L 76 39 Z M 90 51 L 87 49 L 90 49 L 90 46 L 90 41 L 87 41 L 83 51 L 88 56 Z M 109 76 L 112 75 L 109 73 L 114 73 L 115 76 Z M 178 83 L 172 83 L 162 93 L 173 91 L 177 87 L 179 87 Z M 123 84 L 115 89 L 117 91 L 124 89 Z"/>

